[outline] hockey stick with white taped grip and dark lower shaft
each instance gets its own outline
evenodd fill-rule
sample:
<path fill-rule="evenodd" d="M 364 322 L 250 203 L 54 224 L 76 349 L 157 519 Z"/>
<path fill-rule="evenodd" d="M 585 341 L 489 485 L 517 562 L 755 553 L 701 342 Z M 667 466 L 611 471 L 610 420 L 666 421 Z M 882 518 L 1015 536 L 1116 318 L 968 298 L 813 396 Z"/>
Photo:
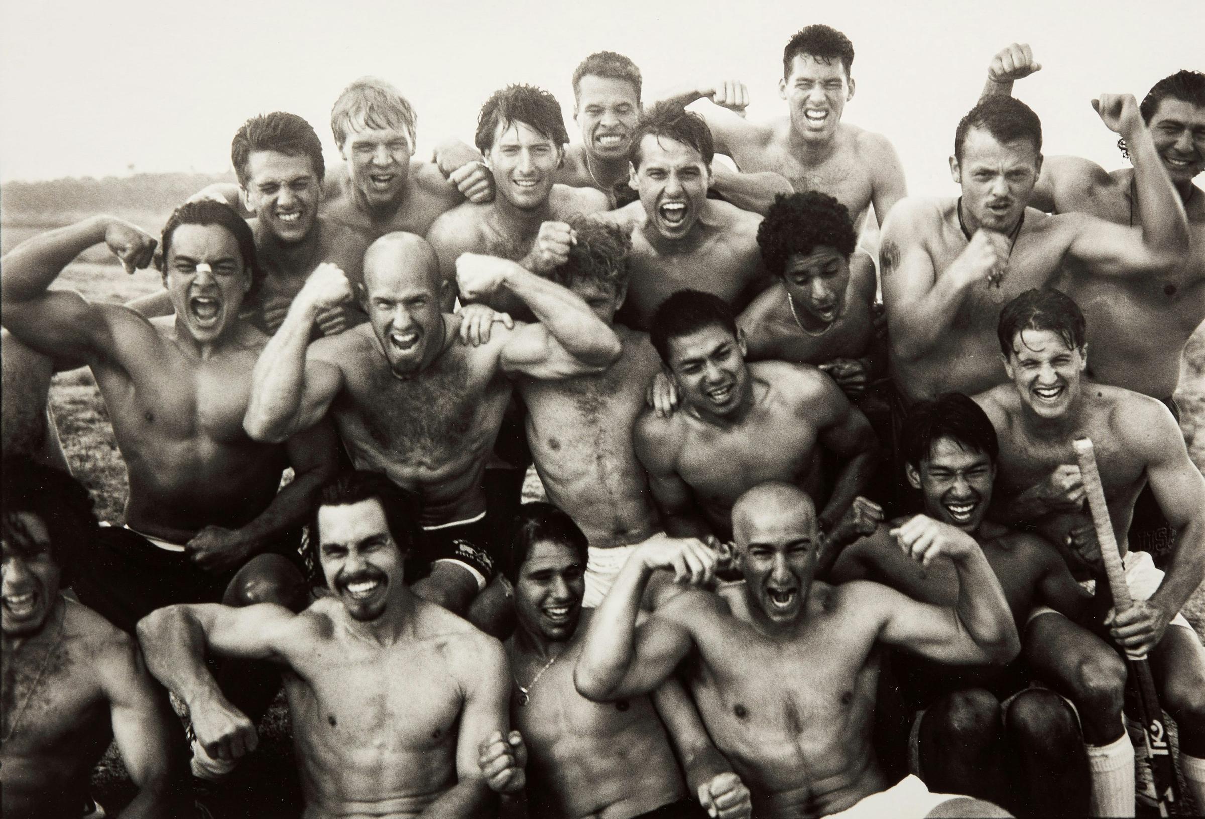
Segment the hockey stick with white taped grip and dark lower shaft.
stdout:
<path fill-rule="evenodd" d="M 1100 546 L 1100 560 L 1109 577 L 1109 590 L 1113 595 L 1113 608 L 1121 613 L 1128 609 L 1130 600 L 1129 585 L 1125 583 L 1125 568 L 1122 566 L 1121 550 L 1113 536 L 1113 526 L 1109 520 L 1109 507 L 1105 503 L 1105 491 L 1100 485 L 1100 473 L 1097 471 L 1097 456 L 1092 441 L 1078 437 L 1074 442 L 1075 459 L 1080 464 L 1083 489 L 1088 496 L 1088 509 L 1092 512 L 1092 525 L 1097 530 L 1097 543 Z M 1134 680 L 1139 720 L 1142 723 L 1142 737 L 1146 740 L 1146 755 L 1151 762 L 1154 779 L 1154 793 L 1140 793 L 1138 797 L 1159 808 L 1159 815 L 1166 817 L 1170 806 L 1176 801 L 1176 772 L 1171 766 L 1171 749 L 1163 725 L 1163 708 L 1159 695 L 1154 690 L 1154 678 L 1146 656 L 1134 658 L 1125 654 L 1130 679 Z"/>

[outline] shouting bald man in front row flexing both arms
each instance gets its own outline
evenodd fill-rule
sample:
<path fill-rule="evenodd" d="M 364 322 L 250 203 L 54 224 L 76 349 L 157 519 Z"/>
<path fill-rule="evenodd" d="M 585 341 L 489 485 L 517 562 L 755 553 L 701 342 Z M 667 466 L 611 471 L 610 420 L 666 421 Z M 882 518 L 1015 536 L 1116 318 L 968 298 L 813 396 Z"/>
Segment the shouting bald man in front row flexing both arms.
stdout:
<path fill-rule="evenodd" d="M 957 603 L 940 607 L 869 581 L 815 581 L 823 538 L 811 500 L 790 484 L 745 493 L 733 507 L 733 531 L 745 582 L 718 594 L 688 589 L 640 626 L 640 597 L 654 570 L 698 584 L 712 576 L 716 554 L 692 541 L 662 540 L 631 555 L 587 626 L 577 690 L 595 701 L 619 700 L 656 689 L 678 670 L 716 747 L 748 785 L 759 819 L 842 814 L 854 806 L 847 815 L 1007 815 L 929 794 L 916 777 L 888 790 L 870 744 L 881 647 L 963 665 L 1017 655 L 1009 605 L 975 541 L 923 515 L 897 530 L 901 548 L 922 565 L 952 560 Z"/>

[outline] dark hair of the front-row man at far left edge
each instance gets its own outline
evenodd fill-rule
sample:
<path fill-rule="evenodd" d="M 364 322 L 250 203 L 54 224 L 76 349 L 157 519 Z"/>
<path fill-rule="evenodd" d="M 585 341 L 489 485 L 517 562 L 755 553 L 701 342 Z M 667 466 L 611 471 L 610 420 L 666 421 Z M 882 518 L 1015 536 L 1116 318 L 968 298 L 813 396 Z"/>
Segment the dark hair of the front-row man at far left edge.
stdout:
<path fill-rule="evenodd" d="M 51 536 L 51 560 L 59 567 L 61 587 L 71 585 L 74 573 L 96 548 L 100 524 L 92 495 L 71 475 L 42 466 L 27 456 L 10 455 L 0 466 L 0 530 L 14 549 L 27 556 L 41 552 L 29 530 L 17 518 L 28 512 L 46 524 Z"/>

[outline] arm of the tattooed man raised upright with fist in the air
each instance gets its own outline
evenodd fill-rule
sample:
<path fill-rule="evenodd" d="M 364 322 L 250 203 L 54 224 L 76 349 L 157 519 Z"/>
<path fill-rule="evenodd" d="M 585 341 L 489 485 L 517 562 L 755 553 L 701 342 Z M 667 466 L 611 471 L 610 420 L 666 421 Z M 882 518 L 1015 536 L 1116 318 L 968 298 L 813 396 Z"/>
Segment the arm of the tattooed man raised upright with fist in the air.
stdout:
<path fill-rule="evenodd" d="M 1138 226 L 1123 228 L 1083 214 L 1075 217 L 1069 252 L 1093 272 L 1115 276 L 1166 272 L 1188 255 L 1189 232 L 1185 205 L 1163 167 L 1138 100 L 1130 94 L 1101 94 L 1092 107 L 1109 130 L 1125 140 L 1134 163 Z"/>

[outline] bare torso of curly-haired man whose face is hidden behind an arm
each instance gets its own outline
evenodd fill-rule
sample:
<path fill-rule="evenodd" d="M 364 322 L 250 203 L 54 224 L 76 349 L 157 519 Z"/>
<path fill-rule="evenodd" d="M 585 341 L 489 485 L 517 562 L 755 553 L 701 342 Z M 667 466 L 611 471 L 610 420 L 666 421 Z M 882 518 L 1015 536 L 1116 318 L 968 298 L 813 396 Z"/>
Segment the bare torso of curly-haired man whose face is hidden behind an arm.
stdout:
<path fill-rule="evenodd" d="M 605 372 L 559 382 L 521 378 L 528 443 L 548 500 L 590 546 L 640 543 L 659 528 L 631 425 L 660 359 L 643 332 L 612 324 L 623 352 Z"/>

